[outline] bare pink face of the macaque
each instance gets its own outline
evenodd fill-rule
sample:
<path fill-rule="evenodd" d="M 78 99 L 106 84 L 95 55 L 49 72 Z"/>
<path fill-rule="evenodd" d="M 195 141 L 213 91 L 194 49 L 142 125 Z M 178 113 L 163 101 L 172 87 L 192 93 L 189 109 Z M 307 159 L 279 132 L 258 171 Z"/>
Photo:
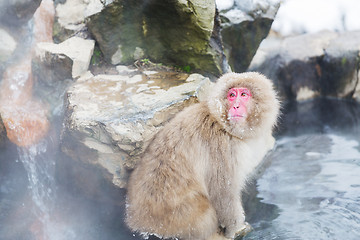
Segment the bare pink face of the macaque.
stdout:
<path fill-rule="evenodd" d="M 231 121 L 245 120 L 251 97 L 250 90 L 247 88 L 231 88 L 227 94 L 227 100 L 230 106 L 228 119 Z"/>

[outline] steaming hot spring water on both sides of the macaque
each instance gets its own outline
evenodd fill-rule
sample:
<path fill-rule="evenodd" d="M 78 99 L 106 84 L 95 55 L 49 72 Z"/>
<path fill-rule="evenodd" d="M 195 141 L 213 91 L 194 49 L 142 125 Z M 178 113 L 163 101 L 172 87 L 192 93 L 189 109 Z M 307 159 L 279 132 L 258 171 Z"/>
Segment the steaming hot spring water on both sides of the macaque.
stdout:
<path fill-rule="evenodd" d="M 359 239 L 360 105 L 315 100 L 286 109 L 277 146 L 247 190 L 254 231 L 244 239 Z M 123 192 L 92 200 L 60 183 L 54 171 L 67 160 L 52 145 L 47 138 L 2 150 L 0 239 L 141 239 L 123 222 Z"/>

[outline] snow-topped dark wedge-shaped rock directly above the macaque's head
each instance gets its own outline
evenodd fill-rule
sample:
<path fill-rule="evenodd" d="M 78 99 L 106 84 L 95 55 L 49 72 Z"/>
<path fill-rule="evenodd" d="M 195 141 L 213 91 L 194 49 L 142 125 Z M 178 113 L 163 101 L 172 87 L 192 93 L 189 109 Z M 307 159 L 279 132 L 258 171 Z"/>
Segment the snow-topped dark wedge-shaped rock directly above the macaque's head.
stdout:
<path fill-rule="evenodd" d="M 225 55 L 235 72 L 248 68 L 279 7 L 279 1 L 241 0 L 236 1 L 235 7 L 220 12 Z"/>

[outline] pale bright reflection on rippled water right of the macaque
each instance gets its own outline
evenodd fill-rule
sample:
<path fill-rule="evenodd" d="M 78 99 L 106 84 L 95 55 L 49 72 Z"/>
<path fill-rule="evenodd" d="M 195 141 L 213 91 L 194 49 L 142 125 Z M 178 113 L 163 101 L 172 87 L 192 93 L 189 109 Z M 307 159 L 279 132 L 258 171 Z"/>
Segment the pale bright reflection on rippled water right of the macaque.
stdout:
<path fill-rule="evenodd" d="M 323 134 L 284 137 L 258 179 L 258 198 L 279 216 L 246 239 L 358 239 L 359 142 Z"/>

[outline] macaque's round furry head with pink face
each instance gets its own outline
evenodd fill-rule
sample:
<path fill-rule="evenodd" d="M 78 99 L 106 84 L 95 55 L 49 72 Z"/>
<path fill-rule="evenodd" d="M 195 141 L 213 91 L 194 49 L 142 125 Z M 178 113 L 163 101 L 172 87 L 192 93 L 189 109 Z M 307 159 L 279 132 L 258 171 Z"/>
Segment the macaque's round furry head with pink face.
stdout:
<path fill-rule="evenodd" d="M 272 82 L 255 73 L 227 73 L 208 99 L 210 113 L 231 135 L 259 136 L 276 124 L 280 103 Z"/>

